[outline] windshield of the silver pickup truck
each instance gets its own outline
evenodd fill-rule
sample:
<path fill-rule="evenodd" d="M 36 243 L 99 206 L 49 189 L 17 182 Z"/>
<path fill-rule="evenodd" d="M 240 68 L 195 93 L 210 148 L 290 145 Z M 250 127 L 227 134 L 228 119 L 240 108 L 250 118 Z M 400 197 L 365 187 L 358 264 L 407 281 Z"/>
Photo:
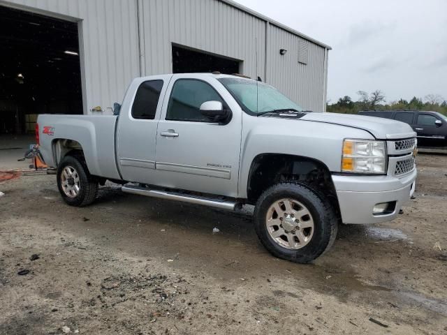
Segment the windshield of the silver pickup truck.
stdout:
<path fill-rule="evenodd" d="M 268 112 L 301 112 L 302 107 L 281 94 L 277 89 L 263 82 L 242 78 L 220 78 L 223 84 L 244 112 L 261 115 Z"/>

